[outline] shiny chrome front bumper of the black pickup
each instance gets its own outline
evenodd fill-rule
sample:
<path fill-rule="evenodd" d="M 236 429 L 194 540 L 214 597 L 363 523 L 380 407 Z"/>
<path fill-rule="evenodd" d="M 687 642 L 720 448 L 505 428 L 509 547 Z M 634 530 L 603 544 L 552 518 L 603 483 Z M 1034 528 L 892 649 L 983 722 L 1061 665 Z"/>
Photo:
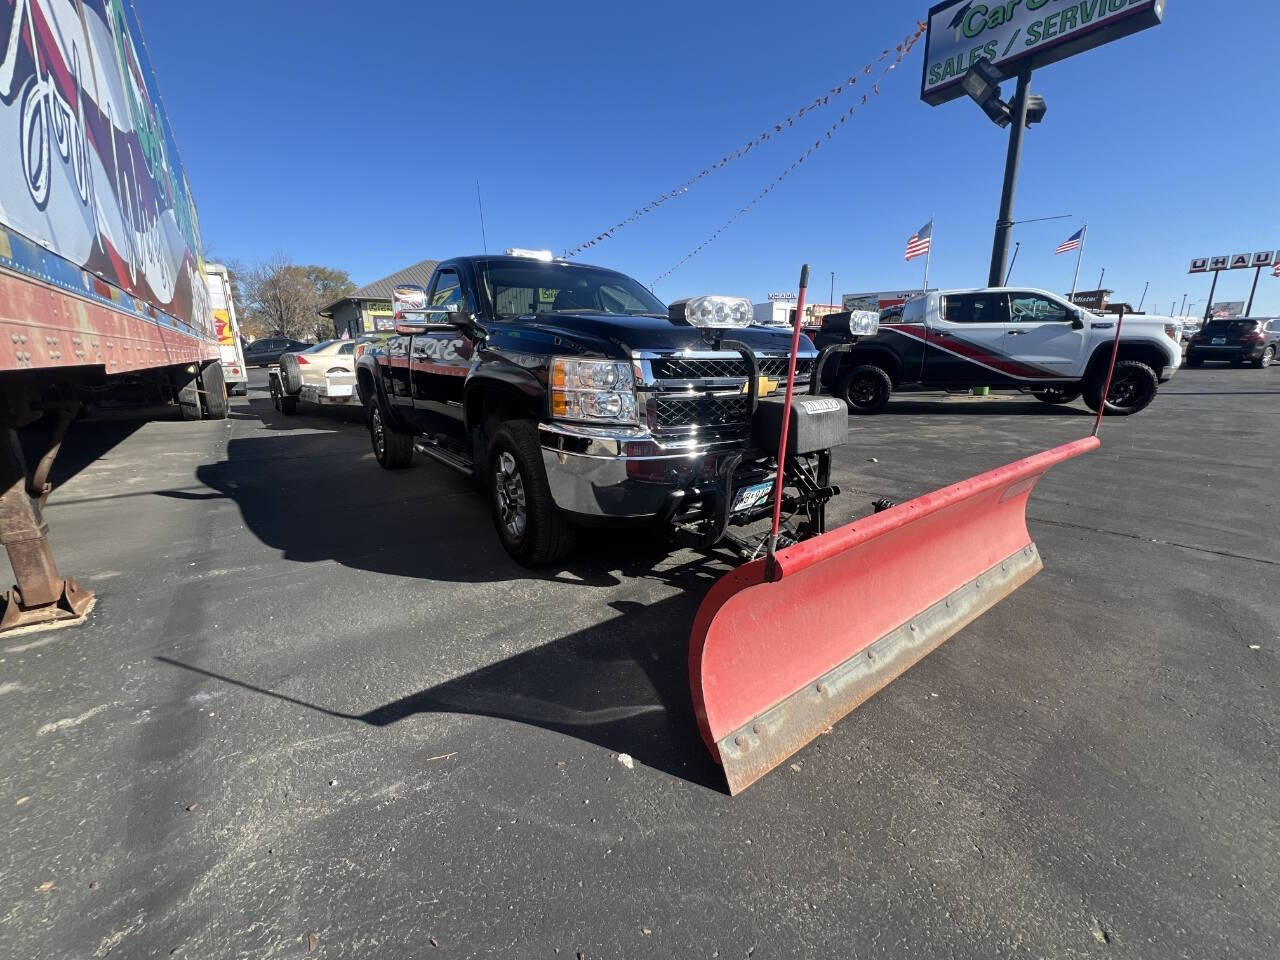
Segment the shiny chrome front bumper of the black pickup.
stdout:
<path fill-rule="evenodd" d="M 602 430 L 539 424 L 543 466 L 556 506 L 581 517 L 660 517 L 678 492 L 714 479 L 722 454 L 741 440 L 664 444 L 644 429 Z"/>

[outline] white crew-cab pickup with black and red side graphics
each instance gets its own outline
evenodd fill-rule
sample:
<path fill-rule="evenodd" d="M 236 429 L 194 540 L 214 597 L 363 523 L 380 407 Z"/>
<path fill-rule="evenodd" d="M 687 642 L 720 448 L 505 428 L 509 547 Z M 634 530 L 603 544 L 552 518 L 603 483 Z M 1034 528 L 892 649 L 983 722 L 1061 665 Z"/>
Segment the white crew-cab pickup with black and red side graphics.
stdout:
<path fill-rule="evenodd" d="M 1116 317 L 1100 316 L 1046 291 L 991 287 L 940 291 L 908 301 L 873 337 L 852 335 L 846 314 L 823 320 L 819 349 L 850 344 L 828 364 L 823 385 L 855 413 L 884 408 L 893 390 L 989 387 L 1027 392 L 1044 403 L 1084 397 L 1102 406 Z M 1181 365 L 1181 328 L 1169 317 L 1128 315 L 1106 412 L 1147 407 Z"/>

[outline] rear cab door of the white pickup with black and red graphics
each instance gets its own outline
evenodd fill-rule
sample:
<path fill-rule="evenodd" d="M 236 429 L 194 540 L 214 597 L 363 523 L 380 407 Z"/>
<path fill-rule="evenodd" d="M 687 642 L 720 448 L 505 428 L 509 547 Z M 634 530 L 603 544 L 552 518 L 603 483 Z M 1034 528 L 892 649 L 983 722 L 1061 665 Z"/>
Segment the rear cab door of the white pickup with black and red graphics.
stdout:
<path fill-rule="evenodd" d="M 931 316 L 923 383 L 995 387 L 1018 381 L 1007 357 L 1009 297 L 992 291 L 948 293 Z"/>

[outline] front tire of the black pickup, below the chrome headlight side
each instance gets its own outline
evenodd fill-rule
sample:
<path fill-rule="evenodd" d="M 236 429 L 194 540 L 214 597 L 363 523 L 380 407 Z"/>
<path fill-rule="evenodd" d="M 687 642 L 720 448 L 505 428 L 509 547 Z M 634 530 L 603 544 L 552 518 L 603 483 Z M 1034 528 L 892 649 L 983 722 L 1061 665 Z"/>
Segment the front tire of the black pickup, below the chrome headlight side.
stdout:
<path fill-rule="evenodd" d="M 564 557 L 576 531 L 556 509 L 534 422 L 499 426 L 489 438 L 484 470 L 493 525 L 511 558 L 540 567 Z"/>

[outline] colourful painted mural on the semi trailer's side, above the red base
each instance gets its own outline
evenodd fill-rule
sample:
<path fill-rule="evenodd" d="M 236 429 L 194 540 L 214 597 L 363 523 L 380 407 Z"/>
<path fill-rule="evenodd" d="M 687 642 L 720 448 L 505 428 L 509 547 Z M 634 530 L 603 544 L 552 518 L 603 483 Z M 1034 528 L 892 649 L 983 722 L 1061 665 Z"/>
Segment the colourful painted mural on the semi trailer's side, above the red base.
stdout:
<path fill-rule="evenodd" d="M 0 0 L 0 225 L 65 261 L 46 275 L 83 270 L 211 335 L 196 205 L 132 3 Z"/>

